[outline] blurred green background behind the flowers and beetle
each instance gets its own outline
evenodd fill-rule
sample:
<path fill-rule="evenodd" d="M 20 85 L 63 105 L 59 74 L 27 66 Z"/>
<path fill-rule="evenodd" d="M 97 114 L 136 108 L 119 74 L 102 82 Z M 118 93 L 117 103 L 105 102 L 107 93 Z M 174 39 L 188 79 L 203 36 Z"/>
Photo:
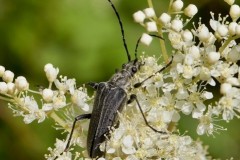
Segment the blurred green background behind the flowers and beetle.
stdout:
<path fill-rule="evenodd" d="M 160 13 L 169 1 L 153 2 Z M 198 16 L 205 17 L 206 23 L 209 11 L 225 15 L 229 8 L 223 0 L 184 2 L 197 3 Z M 145 30 L 133 22 L 132 14 L 146 8 L 147 2 L 113 0 L 113 3 L 133 53 L 138 37 Z M 160 55 L 157 42 L 149 48 L 140 48 L 147 54 Z M 16 76 L 27 77 L 32 88 L 47 86 L 43 67 L 49 62 L 59 67 L 61 75 L 76 78 L 77 84 L 82 84 L 106 81 L 126 60 L 119 24 L 107 0 L 0 0 L 0 65 Z M 25 125 L 22 118 L 13 117 L 6 102 L 0 101 L 0 159 L 44 159 L 55 138 L 64 136 L 53 125 L 50 119 Z M 197 137 L 197 123 L 189 124 L 189 119 L 184 118 L 179 125 Z M 239 120 L 222 125 L 228 131 L 215 134 L 215 138 L 200 138 L 209 145 L 213 157 L 240 159 Z"/>

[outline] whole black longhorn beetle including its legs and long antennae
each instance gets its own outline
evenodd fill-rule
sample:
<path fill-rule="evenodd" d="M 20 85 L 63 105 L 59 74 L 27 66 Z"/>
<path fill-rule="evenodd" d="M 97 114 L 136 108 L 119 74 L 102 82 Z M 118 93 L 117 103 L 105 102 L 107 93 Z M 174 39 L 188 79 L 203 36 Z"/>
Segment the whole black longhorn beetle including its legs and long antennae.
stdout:
<path fill-rule="evenodd" d="M 129 86 L 129 81 L 134 76 L 134 74 L 140 69 L 140 67 L 143 65 L 143 63 L 139 62 L 137 59 L 137 49 L 138 49 L 138 44 L 140 42 L 140 38 L 138 39 L 136 48 L 135 48 L 135 59 L 131 60 L 131 56 L 128 52 L 128 48 L 125 40 L 122 21 L 111 0 L 108 0 L 108 1 L 113 8 L 121 27 L 122 39 L 123 39 L 124 48 L 127 53 L 128 62 L 123 64 L 122 69 L 120 71 L 117 71 L 107 82 L 88 83 L 89 86 L 91 86 L 96 90 L 92 113 L 82 114 L 75 117 L 72 130 L 70 132 L 70 136 L 68 138 L 67 145 L 64 150 L 64 151 L 67 151 L 70 146 L 70 142 L 72 139 L 76 122 L 83 119 L 90 119 L 88 136 L 87 136 L 87 151 L 91 158 L 98 158 L 104 155 L 104 153 L 100 151 L 100 148 L 99 148 L 100 144 L 103 141 L 105 141 L 106 135 L 108 135 L 109 133 L 109 128 L 114 125 L 114 122 L 116 122 L 117 112 L 121 112 L 123 106 L 126 103 L 131 103 L 133 100 L 137 102 L 137 106 L 144 118 L 146 125 L 149 126 L 155 132 L 165 133 L 163 131 L 158 131 L 149 125 L 149 123 L 147 122 L 144 116 L 144 113 L 142 111 L 142 108 L 139 104 L 139 101 L 136 95 L 131 95 L 130 99 L 127 100 L 127 93 L 125 90 Z M 156 35 L 151 35 L 151 36 L 158 37 Z M 158 38 L 161 38 L 161 37 L 158 37 Z M 156 73 L 166 69 L 171 64 L 171 62 L 172 61 L 170 61 L 165 67 L 163 67 Z M 136 83 L 134 87 L 137 88 L 141 86 L 142 83 L 144 83 L 146 80 L 148 80 L 153 76 L 154 74 L 149 76 L 142 82 Z"/>

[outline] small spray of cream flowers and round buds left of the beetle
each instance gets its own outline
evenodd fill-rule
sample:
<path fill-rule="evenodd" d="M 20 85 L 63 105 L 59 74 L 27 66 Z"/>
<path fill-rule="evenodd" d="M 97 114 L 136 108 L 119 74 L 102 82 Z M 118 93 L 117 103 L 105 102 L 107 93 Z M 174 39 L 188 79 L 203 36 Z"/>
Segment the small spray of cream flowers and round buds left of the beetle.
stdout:
<path fill-rule="evenodd" d="M 62 76 L 60 76 L 60 80 L 57 79 L 59 70 L 54 68 L 52 64 L 45 65 L 44 71 L 49 81 L 49 87 L 33 91 L 29 89 L 29 83 L 25 77 L 19 76 L 14 79 L 13 72 L 0 66 L 0 77 L 3 80 L 0 82 L 0 99 L 9 102 L 9 107 L 16 116 L 23 116 L 24 122 L 28 124 L 34 120 L 38 120 L 40 123 L 47 116 L 53 116 L 57 121 L 58 118 L 56 118 L 57 115 L 54 114 L 54 111 L 66 106 L 76 105 L 83 112 L 89 111 L 87 101 L 90 98 L 86 88 L 76 88 L 75 79 L 67 79 L 67 77 Z M 53 83 L 56 89 L 52 89 Z M 64 127 L 64 124 L 58 123 Z M 68 125 L 71 126 L 71 123 Z"/>

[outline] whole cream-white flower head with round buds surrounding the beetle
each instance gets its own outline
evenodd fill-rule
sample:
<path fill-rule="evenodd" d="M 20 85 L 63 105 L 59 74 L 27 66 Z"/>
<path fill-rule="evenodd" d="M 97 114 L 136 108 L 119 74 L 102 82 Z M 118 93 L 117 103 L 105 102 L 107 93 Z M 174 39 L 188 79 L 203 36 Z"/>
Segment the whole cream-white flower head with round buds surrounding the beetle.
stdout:
<path fill-rule="evenodd" d="M 240 7 L 234 0 L 225 1 L 229 15 L 210 13 L 209 24 L 203 24 L 201 19 L 196 24 L 190 23 L 198 9 L 193 4 L 185 5 L 182 0 L 170 0 L 168 11 L 160 15 L 155 14 L 152 1 L 148 0 L 148 8 L 133 14 L 135 22 L 146 28 L 140 40 L 143 44 L 150 45 L 149 34 L 164 40 L 160 40 L 161 57 L 140 57 L 144 65 L 126 92 L 137 95 L 147 121 L 166 134 L 151 130 L 133 102 L 119 113 L 119 126 L 111 127 L 107 142 L 100 146 L 106 152 L 105 158 L 100 159 L 211 159 L 206 147 L 190 135 L 179 133 L 176 124 L 183 114 L 188 115 L 198 120 L 198 135 L 212 135 L 226 130 L 217 121 L 239 118 L 240 46 L 236 40 L 240 37 Z M 168 42 L 172 48 L 167 53 Z M 172 64 L 168 70 L 156 73 L 169 57 Z M 161 58 L 165 63 L 159 64 Z M 22 116 L 27 124 L 50 117 L 56 121 L 57 129 L 69 132 L 75 116 L 91 112 L 94 95 L 89 96 L 84 85 L 77 88 L 75 79 L 58 78 L 59 69 L 52 64 L 47 64 L 44 71 L 49 86 L 34 91 L 25 77 L 14 78 L 13 72 L 0 66 L 0 98 L 8 101 L 13 113 Z M 141 87 L 133 87 L 153 74 Z M 217 86 L 214 94 L 208 86 Z M 216 93 L 218 97 L 214 96 Z M 68 151 L 62 154 L 66 140 L 57 139 L 55 148 L 49 148 L 50 153 L 45 157 L 87 159 L 87 130 L 87 122 L 81 122 Z M 81 149 L 74 150 L 75 145 Z"/>

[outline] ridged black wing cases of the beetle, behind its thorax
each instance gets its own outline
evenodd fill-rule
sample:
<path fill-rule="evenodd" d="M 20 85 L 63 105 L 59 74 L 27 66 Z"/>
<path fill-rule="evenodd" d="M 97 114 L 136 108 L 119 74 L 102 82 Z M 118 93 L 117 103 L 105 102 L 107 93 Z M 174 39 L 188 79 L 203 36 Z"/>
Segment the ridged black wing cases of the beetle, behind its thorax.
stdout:
<path fill-rule="evenodd" d="M 99 145 L 106 139 L 109 128 L 114 124 L 117 111 L 121 111 L 126 104 L 126 92 L 107 82 L 101 82 L 96 91 L 92 118 L 89 124 L 87 149 L 91 158 L 103 155 Z"/>

